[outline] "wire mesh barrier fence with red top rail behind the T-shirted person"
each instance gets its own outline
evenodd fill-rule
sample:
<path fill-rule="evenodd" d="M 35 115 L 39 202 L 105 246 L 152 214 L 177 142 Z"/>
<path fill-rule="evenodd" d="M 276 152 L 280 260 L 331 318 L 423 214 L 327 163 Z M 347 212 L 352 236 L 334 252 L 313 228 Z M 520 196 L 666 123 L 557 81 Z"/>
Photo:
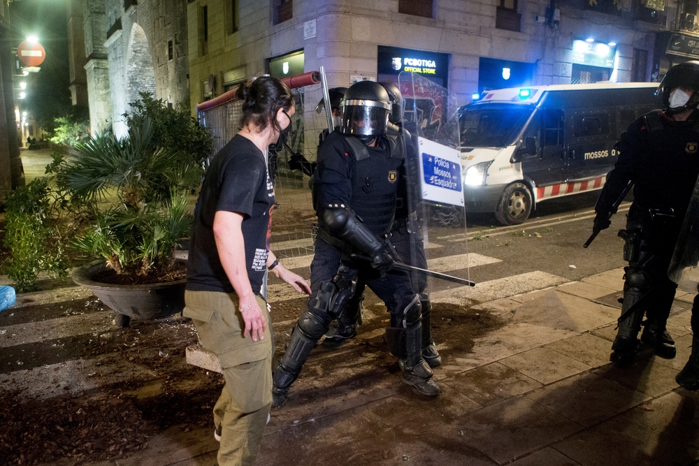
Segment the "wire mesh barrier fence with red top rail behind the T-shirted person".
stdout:
<path fill-rule="evenodd" d="M 309 265 L 312 259 L 316 215 L 309 182 L 317 161 L 319 135 L 328 124 L 325 113 L 316 111 L 323 98 L 317 72 L 294 76 L 284 83 L 294 93 L 296 113 L 291 117 L 287 144 L 268 151 L 277 202 L 272 213 L 271 249 L 288 268 L 296 268 Z M 213 134 L 212 156 L 238 133 L 242 104 L 232 90 L 197 105 L 199 122 Z"/>

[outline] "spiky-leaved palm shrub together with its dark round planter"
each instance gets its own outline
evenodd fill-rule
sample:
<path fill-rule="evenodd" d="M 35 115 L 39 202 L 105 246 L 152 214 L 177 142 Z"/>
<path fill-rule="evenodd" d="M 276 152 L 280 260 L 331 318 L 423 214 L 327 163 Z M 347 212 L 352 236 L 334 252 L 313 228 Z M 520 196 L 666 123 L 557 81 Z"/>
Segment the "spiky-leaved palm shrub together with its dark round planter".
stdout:
<path fill-rule="evenodd" d="M 188 194 L 201 167 L 153 137 L 149 117 L 132 117 L 128 136 L 80 140 L 52 167 L 59 190 L 91 211 L 71 246 L 100 258 L 76 269 L 73 281 L 115 310 L 120 326 L 184 307 L 185 264 L 175 248 L 189 235 Z"/>

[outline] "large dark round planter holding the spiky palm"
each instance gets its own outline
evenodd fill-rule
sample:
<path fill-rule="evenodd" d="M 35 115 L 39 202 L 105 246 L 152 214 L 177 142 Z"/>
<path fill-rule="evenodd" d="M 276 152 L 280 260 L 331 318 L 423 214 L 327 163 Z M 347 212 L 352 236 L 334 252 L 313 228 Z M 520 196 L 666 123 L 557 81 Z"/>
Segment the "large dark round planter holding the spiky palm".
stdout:
<path fill-rule="evenodd" d="M 115 285 L 94 282 L 92 278 L 106 269 L 103 260 L 94 261 L 75 269 L 73 282 L 85 286 L 102 303 L 115 311 L 115 323 L 126 327 L 131 318 L 159 319 L 182 312 L 185 308 L 187 279 L 149 285 Z"/>

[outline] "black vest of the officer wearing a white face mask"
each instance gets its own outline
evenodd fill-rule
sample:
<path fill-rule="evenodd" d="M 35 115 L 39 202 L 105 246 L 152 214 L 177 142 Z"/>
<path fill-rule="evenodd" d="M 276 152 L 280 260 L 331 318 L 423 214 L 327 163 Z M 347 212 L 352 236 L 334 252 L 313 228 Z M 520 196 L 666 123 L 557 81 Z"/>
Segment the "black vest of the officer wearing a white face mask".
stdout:
<path fill-rule="evenodd" d="M 646 150 L 635 164 L 638 205 L 684 212 L 699 175 L 699 122 L 675 122 L 660 110 L 644 116 Z"/>

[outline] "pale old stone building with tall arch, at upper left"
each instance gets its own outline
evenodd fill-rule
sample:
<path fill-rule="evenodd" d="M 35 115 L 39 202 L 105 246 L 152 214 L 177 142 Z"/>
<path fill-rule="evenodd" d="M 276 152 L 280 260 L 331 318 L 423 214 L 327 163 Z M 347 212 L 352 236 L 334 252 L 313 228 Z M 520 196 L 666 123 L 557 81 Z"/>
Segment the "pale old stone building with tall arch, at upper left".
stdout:
<path fill-rule="evenodd" d="M 124 136 L 124 113 L 141 92 L 189 105 L 186 0 L 84 1 L 92 131 Z"/>

